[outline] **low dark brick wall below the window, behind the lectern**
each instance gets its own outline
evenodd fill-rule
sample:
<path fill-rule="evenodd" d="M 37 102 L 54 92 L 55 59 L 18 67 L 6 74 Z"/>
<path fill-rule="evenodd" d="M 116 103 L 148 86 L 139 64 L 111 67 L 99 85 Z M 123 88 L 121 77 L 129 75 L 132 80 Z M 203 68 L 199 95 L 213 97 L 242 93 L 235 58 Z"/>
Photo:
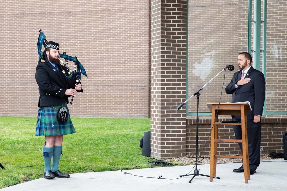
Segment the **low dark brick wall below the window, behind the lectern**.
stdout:
<path fill-rule="evenodd" d="M 229 119 L 221 119 L 229 120 Z M 196 120 L 187 119 L 186 153 L 195 154 Z M 287 119 L 262 118 L 261 120 L 261 152 L 283 153 L 283 134 L 287 133 Z M 198 127 L 198 154 L 210 155 L 211 119 L 200 119 Z M 232 125 L 218 125 L 218 139 L 236 139 Z M 206 145 L 205 145 L 206 143 Z M 218 143 L 218 155 L 242 154 L 237 143 Z"/>

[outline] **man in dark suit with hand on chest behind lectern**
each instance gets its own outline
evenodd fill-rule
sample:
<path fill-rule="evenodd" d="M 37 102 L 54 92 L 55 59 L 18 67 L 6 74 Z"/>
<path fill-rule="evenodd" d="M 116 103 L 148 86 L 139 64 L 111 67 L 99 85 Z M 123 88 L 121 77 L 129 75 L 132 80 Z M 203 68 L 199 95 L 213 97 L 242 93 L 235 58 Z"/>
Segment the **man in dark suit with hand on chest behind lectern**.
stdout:
<path fill-rule="evenodd" d="M 264 74 L 251 66 L 252 57 L 248 52 L 238 55 L 239 71 L 235 72 L 225 92 L 232 94 L 232 103 L 249 101 L 252 111 L 247 113 L 247 135 L 250 174 L 256 173 L 260 164 L 261 116 L 265 101 Z M 232 116 L 232 121 L 241 121 L 241 116 Z M 241 125 L 233 125 L 236 139 L 242 139 Z M 238 143 L 242 152 L 242 143 Z M 243 166 L 233 172 L 244 172 Z"/>

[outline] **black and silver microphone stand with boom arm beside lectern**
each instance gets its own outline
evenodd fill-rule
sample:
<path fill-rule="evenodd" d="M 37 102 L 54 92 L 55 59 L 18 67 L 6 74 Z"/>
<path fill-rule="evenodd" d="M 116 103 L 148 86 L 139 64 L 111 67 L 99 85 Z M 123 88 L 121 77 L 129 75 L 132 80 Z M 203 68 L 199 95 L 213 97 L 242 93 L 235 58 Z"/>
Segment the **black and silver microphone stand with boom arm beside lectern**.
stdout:
<path fill-rule="evenodd" d="M 230 66 L 232 66 L 232 65 L 230 65 Z M 221 74 L 226 68 L 228 68 L 228 70 L 234 70 L 234 66 L 232 66 L 233 68 L 230 67 L 230 66 L 226 66 L 223 70 L 221 70 L 221 72 L 219 72 L 216 76 L 214 76 L 214 78 L 216 78 L 219 74 Z M 195 170 L 194 170 L 193 174 L 179 175 L 180 177 L 193 175 L 193 177 L 191 178 L 191 180 L 189 180 L 188 183 L 191 183 L 191 181 L 193 180 L 193 178 L 194 178 L 195 176 L 206 176 L 206 177 L 210 177 L 209 175 L 199 174 L 199 170 L 197 169 L 198 121 L 199 121 L 198 108 L 199 108 L 199 96 L 200 96 L 199 91 L 202 90 L 202 89 L 203 89 L 207 84 L 209 84 L 212 80 L 214 80 L 214 78 L 212 78 L 209 82 L 207 82 L 204 86 L 202 86 L 197 92 L 195 92 L 189 99 L 187 99 L 185 102 L 183 102 L 181 105 L 179 105 L 179 106 L 177 107 L 177 109 L 180 110 L 180 109 L 185 105 L 185 103 L 187 103 L 193 96 L 197 95 Z M 218 179 L 220 179 L 219 177 L 213 177 L 213 178 L 218 178 Z"/>

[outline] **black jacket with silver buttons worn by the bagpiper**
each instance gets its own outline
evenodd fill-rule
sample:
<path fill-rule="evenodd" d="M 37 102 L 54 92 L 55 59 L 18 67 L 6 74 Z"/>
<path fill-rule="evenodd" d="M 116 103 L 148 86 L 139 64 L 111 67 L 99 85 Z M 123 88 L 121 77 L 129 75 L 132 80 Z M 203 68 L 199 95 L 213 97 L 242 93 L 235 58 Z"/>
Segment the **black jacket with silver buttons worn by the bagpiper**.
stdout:
<path fill-rule="evenodd" d="M 62 69 L 68 74 L 65 67 L 62 66 Z M 35 78 L 40 90 L 38 107 L 61 105 L 65 101 L 69 103 L 70 96 L 65 95 L 66 90 L 69 89 L 68 81 L 61 68 L 59 70 L 56 70 L 47 60 L 37 65 Z"/>

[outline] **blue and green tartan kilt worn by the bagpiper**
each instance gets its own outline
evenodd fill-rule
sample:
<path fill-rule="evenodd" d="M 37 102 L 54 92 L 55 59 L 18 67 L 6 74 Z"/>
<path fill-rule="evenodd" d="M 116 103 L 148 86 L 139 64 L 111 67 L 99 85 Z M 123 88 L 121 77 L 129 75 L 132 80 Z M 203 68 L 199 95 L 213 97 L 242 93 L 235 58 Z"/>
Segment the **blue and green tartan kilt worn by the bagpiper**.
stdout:
<path fill-rule="evenodd" d="M 55 108 L 53 108 L 55 107 Z M 68 135 L 75 133 L 75 128 L 71 121 L 69 109 L 67 107 L 67 103 L 63 103 L 62 105 L 57 106 L 44 106 L 39 107 L 38 117 L 36 123 L 36 136 L 41 135 Z M 68 113 L 68 121 L 66 123 L 61 123 L 57 120 L 57 109 L 61 109 L 61 107 L 67 108 Z"/>

